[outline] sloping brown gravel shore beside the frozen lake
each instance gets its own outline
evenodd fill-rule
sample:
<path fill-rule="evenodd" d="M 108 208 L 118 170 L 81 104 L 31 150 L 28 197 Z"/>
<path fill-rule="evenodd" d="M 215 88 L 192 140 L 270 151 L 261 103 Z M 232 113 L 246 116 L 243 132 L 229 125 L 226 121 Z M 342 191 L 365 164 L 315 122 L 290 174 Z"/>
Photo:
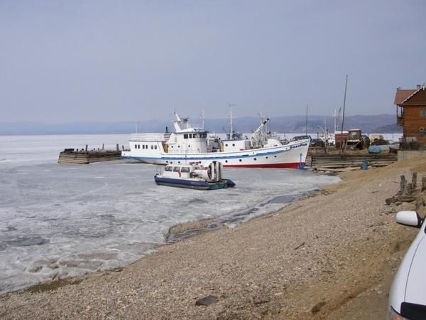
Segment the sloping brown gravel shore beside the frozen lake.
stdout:
<path fill-rule="evenodd" d="M 414 203 L 385 200 L 401 174 L 422 176 L 423 162 L 342 174 L 316 196 L 158 247 L 124 269 L 7 294 L 0 318 L 385 319 L 382 284 L 417 232 L 395 223 L 395 213 Z M 207 296 L 217 301 L 196 305 Z M 371 308 L 376 314 L 356 313 L 373 296 L 383 304 Z"/>

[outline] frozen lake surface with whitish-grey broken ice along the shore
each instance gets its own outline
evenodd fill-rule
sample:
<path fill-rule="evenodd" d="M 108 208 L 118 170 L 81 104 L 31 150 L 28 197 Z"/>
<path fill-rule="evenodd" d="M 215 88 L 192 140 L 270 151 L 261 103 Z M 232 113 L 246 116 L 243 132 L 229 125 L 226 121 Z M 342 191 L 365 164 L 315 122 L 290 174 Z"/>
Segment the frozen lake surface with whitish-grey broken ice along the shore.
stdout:
<path fill-rule="evenodd" d="M 64 148 L 115 149 L 128 138 L 0 136 L 0 294 L 121 267 L 165 243 L 177 223 L 248 220 L 339 181 L 308 170 L 225 169 L 235 188 L 195 191 L 156 186 L 149 164 L 57 164 Z"/>

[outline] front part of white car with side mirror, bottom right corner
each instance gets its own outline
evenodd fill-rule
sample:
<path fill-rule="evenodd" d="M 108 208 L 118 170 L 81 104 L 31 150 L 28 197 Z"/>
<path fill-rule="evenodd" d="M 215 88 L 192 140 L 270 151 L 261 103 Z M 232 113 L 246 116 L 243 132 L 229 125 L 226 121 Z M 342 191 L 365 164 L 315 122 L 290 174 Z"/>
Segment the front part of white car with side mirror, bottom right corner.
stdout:
<path fill-rule="evenodd" d="M 426 319 L 426 223 L 415 211 L 400 211 L 396 222 L 420 228 L 393 279 L 388 320 Z"/>

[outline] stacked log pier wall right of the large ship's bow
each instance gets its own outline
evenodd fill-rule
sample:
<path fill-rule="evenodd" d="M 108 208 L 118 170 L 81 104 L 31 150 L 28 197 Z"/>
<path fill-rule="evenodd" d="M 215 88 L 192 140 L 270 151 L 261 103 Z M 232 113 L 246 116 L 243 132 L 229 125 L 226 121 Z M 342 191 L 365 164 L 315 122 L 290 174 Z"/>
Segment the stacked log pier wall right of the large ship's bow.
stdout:
<path fill-rule="evenodd" d="M 398 161 L 396 154 L 312 154 L 311 167 L 316 170 L 361 168 L 367 161 L 368 166 L 388 166 Z"/>

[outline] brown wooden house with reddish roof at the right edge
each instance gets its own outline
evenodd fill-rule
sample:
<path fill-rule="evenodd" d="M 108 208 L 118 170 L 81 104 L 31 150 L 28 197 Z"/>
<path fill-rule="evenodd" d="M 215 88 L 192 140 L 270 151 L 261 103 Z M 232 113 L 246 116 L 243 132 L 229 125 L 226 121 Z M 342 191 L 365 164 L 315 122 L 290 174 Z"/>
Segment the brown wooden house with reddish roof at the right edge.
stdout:
<path fill-rule="evenodd" d="M 403 126 L 404 142 L 426 145 L 425 85 L 417 85 L 413 90 L 398 88 L 394 104 L 397 124 Z"/>

